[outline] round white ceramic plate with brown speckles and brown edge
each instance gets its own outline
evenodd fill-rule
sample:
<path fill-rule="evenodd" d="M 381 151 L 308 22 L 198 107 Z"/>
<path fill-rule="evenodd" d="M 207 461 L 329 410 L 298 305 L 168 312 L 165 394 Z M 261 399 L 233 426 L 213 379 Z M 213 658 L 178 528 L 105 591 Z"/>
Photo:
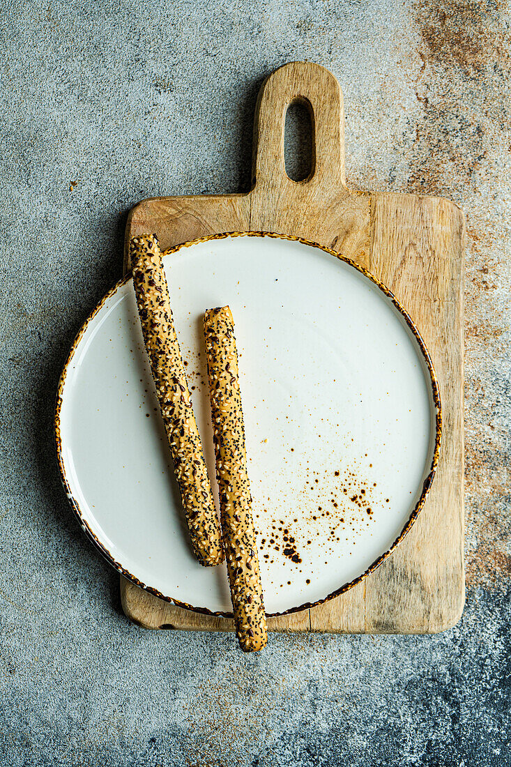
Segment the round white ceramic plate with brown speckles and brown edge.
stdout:
<path fill-rule="evenodd" d="M 202 318 L 232 309 L 267 613 L 340 593 L 397 545 L 434 476 L 440 400 L 414 324 L 311 243 L 224 235 L 164 264 L 213 487 Z M 71 505 L 102 553 L 160 597 L 230 614 L 225 565 L 201 567 L 187 544 L 130 278 L 74 342 L 56 433 Z"/>

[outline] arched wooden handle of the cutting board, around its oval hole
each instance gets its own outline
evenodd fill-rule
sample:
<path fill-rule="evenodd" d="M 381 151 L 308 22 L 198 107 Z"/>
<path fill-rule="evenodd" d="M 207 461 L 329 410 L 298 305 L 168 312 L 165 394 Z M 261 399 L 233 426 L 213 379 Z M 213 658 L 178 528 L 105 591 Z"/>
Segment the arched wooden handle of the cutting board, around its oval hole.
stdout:
<path fill-rule="evenodd" d="M 303 181 L 285 173 L 285 114 L 290 104 L 308 107 L 312 121 L 312 169 Z M 344 107 L 341 87 L 328 69 L 308 61 L 285 64 L 266 78 L 255 107 L 254 191 L 280 196 L 307 187 L 325 191 L 345 186 Z M 303 189 L 305 191 L 305 189 Z"/>

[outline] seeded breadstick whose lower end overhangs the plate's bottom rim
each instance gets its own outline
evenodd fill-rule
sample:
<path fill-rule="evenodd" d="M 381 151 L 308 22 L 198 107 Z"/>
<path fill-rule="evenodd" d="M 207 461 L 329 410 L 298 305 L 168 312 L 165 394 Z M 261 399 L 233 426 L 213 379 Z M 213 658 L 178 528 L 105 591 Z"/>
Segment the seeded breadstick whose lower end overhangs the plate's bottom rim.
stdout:
<path fill-rule="evenodd" d="M 209 400 L 220 492 L 220 519 L 239 645 L 247 653 L 268 639 L 246 469 L 245 426 L 234 323 L 228 306 L 204 315 Z"/>

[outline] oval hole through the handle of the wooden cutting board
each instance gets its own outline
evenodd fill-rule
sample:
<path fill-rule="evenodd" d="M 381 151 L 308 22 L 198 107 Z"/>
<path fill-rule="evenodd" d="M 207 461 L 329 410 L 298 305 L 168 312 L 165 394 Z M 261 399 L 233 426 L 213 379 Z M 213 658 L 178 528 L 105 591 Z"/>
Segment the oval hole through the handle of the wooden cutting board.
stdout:
<path fill-rule="evenodd" d="M 295 99 L 285 113 L 284 166 L 288 178 L 298 183 L 314 175 L 313 111 L 304 98 Z"/>

